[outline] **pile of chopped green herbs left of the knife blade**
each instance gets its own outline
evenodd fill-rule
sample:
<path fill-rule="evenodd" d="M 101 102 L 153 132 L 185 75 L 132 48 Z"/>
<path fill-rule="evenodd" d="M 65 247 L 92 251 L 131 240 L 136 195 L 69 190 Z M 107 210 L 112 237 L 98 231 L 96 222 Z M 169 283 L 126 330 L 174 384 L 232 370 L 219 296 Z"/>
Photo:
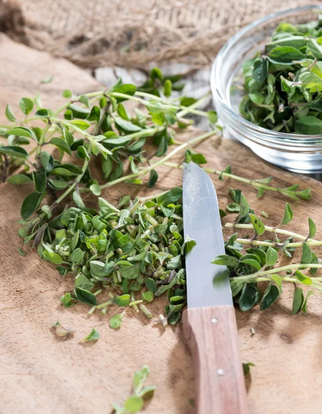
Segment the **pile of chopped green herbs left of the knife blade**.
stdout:
<path fill-rule="evenodd" d="M 176 324 L 186 304 L 184 253 L 195 244 L 182 236 L 181 197 L 181 188 L 173 188 L 157 199 L 131 203 L 125 197 L 120 209 L 100 197 L 98 213 L 64 210 L 46 226 L 38 246 L 40 257 L 58 265 L 61 275 L 76 275 L 73 292 L 61 303 L 84 302 L 93 306 L 91 313 L 106 313 L 111 305 L 135 306 L 151 318 L 146 305 L 167 293 L 160 319 Z M 104 291 L 110 297 L 100 303 Z M 120 326 L 114 319 L 111 326 Z"/>

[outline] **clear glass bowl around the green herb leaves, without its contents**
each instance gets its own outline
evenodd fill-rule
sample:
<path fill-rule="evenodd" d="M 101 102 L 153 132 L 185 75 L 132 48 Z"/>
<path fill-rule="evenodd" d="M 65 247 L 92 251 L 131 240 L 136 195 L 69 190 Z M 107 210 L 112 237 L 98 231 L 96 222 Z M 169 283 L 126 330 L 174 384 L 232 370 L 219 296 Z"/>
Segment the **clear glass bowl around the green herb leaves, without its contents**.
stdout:
<path fill-rule="evenodd" d="M 211 90 L 225 134 L 238 139 L 259 157 L 294 172 L 322 172 L 322 135 L 297 135 L 261 128 L 240 115 L 241 92 L 235 87 L 243 62 L 252 59 L 281 21 L 307 23 L 316 20 L 322 6 L 305 6 L 269 14 L 249 24 L 220 49 L 211 70 Z"/>

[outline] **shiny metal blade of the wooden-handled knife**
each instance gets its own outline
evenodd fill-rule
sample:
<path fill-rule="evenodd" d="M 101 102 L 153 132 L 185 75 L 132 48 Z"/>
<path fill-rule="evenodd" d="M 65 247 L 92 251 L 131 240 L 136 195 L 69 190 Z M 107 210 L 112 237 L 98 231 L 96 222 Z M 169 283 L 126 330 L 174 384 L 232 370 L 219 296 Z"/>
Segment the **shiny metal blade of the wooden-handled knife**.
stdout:
<path fill-rule="evenodd" d="M 184 164 L 182 199 L 184 237 L 197 242 L 186 257 L 188 307 L 233 306 L 226 266 L 211 264 L 214 257 L 225 255 L 216 190 L 193 162 Z"/>

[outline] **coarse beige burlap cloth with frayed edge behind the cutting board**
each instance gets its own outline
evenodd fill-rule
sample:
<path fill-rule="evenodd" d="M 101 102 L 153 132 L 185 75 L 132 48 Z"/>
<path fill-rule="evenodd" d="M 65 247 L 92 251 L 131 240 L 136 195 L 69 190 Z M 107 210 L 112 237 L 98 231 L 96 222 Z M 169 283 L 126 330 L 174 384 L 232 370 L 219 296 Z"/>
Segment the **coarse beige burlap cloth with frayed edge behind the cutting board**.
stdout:
<path fill-rule="evenodd" d="M 240 27 L 312 0 L 0 0 L 0 30 L 83 68 L 209 65 Z"/>

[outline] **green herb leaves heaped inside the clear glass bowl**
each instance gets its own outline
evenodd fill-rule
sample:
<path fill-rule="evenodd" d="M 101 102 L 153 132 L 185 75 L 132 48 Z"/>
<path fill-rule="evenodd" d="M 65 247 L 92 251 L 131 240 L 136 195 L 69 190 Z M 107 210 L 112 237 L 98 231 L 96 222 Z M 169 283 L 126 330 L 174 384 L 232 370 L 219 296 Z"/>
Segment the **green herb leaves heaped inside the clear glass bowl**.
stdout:
<path fill-rule="evenodd" d="M 240 113 L 269 130 L 322 134 L 322 19 L 280 23 L 263 52 L 243 66 Z"/>

